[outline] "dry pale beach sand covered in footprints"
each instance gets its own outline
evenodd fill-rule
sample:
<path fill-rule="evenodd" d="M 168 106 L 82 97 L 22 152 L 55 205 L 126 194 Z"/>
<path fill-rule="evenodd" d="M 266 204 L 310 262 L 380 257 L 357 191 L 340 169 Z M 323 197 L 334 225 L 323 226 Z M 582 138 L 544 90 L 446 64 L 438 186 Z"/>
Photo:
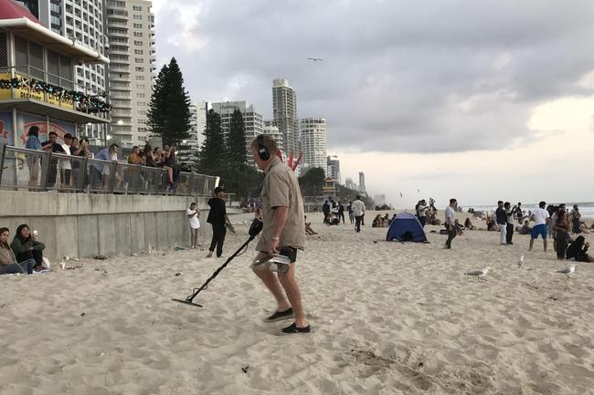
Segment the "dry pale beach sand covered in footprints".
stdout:
<path fill-rule="evenodd" d="M 594 264 L 569 279 L 541 241 L 526 252 L 528 236 L 466 232 L 444 250 L 438 227 L 431 244 L 375 243 L 386 229 L 309 216 L 320 234 L 297 265 L 313 333 L 262 322 L 275 306 L 249 271 L 253 244 L 204 308 L 171 298 L 222 263 L 205 252 L 70 261 L 82 267 L 0 277 L 0 393 L 594 393 Z M 237 228 L 226 256 L 246 239 Z M 463 275 L 486 265 L 487 282 Z"/>

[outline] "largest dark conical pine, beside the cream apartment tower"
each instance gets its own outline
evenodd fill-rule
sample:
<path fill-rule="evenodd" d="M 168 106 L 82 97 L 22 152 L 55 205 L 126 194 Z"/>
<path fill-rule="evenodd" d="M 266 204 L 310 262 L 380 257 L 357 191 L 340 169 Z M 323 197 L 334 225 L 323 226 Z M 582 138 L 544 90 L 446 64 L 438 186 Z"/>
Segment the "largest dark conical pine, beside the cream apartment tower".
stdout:
<path fill-rule="evenodd" d="M 147 124 L 164 144 L 179 145 L 190 136 L 190 97 L 184 88 L 182 71 L 171 58 L 169 65 L 161 68 L 154 84 L 153 95 L 147 111 Z"/>

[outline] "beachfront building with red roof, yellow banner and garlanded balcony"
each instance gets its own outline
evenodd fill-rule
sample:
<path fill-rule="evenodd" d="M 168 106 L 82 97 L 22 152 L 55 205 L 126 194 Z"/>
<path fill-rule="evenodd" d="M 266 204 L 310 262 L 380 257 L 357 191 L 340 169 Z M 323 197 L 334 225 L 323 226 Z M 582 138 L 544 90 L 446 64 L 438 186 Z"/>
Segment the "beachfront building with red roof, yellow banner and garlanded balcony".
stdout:
<path fill-rule="evenodd" d="M 80 86 L 75 67 L 108 64 L 100 52 L 42 26 L 27 8 L 0 0 L 0 134 L 23 147 L 27 130 L 58 140 L 78 125 L 110 121 L 104 92 Z"/>

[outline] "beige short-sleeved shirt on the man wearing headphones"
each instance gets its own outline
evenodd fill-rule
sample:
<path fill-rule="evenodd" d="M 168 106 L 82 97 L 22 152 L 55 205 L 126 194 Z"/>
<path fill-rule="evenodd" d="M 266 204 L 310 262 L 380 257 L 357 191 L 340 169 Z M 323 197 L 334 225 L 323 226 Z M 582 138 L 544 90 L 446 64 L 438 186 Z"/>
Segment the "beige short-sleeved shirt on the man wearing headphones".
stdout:
<path fill-rule="evenodd" d="M 274 231 L 274 208 L 289 207 L 287 223 L 281 232 L 281 247 L 303 249 L 305 246 L 305 222 L 302 193 L 295 173 L 282 161 L 274 157 L 264 169 L 262 187 L 262 222 L 264 228 L 256 250 L 266 252 L 272 241 Z"/>

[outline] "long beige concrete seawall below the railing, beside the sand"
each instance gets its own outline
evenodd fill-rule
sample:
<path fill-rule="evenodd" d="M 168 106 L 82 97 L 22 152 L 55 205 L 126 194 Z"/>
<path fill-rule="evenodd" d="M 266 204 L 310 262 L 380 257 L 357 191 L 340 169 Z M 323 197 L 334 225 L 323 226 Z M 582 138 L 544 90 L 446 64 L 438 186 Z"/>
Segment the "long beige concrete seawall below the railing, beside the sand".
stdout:
<path fill-rule="evenodd" d="M 51 262 L 62 256 L 132 255 L 152 249 L 189 245 L 186 208 L 200 212 L 199 241 L 210 240 L 207 198 L 0 191 L 0 227 L 27 223 L 46 244 Z"/>

